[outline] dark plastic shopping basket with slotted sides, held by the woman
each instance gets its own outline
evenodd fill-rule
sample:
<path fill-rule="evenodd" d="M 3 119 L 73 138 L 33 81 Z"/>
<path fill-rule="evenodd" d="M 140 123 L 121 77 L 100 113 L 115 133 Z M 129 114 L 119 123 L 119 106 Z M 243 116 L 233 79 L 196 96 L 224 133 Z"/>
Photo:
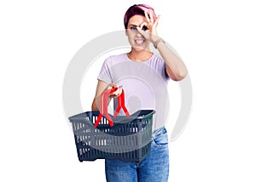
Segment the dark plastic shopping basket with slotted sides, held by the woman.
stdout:
<path fill-rule="evenodd" d="M 154 112 L 140 110 L 129 117 L 110 114 L 105 117 L 102 113 L 106 112 L 86 111 L 69 117 L 79 161 L 120 159 L 141 162 L 151 148 Z"/>

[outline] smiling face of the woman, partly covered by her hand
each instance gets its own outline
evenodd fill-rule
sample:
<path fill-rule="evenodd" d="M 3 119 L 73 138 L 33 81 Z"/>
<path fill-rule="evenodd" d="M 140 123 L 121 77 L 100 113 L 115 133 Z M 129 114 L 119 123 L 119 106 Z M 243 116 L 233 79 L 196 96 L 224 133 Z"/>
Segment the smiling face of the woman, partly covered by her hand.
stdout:
<path fill-rule="evenodd" d="M 147 19 L 143 15 L 134 15 L 128 21 L 126 35 L 131 47 L 137 51 L 149 49 L 149 41 L 137 31 L 137 27 L 141 26 L 144 22 L 147 22 Z"/>

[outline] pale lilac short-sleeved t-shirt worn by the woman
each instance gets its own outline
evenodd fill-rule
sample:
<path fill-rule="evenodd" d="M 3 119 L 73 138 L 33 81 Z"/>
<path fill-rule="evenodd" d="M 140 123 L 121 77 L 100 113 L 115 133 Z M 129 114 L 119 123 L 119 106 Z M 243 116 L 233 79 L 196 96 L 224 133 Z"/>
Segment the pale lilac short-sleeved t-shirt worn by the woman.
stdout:
<path fill-rule="evenodd" d="M 160 55 L 153 54 L 143 62 L 130 60 L 127 54 L 110 56 L 103 63 L 98 80 L 122 86 L 125 106 L 130 114 L 138 110 L 156 111 L 153 130 L 165 126 L 169 111 L 169 77 L 166 75 L 166 63 Z M 117 100 L 114 100 L 114 108 L 116 105 Z"/>

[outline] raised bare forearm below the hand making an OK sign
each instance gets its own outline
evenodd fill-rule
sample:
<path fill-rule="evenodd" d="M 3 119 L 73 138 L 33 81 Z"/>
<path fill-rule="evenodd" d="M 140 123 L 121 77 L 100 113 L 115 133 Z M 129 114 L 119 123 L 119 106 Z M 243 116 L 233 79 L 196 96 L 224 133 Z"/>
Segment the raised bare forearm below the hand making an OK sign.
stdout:
<path fill-rule="evenodd" d="M 188 73 L 186 66 L 166 43 L 161 41 L 157 44 L 157 49 L 166 62 L 166 72 L 172 80 L 179 81 L 186 77 Z"/>

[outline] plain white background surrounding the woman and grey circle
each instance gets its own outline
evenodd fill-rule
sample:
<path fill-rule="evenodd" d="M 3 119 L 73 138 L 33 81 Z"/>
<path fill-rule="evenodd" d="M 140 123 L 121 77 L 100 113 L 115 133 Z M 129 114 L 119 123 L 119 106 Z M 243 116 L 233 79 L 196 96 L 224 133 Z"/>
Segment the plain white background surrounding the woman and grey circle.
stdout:
<path fill-rule="evenodd" d="M 193 84 L 189 124 L 170 143 L 169 181 L 256 180 L 253 0 L 109 0 L 1 1 L 1 181 L 105 181 L 102 161 L 77 159 L 62 82 L 79 48 L 123 29 L 134 3 L 161 14 L 159 34 Z"/>

